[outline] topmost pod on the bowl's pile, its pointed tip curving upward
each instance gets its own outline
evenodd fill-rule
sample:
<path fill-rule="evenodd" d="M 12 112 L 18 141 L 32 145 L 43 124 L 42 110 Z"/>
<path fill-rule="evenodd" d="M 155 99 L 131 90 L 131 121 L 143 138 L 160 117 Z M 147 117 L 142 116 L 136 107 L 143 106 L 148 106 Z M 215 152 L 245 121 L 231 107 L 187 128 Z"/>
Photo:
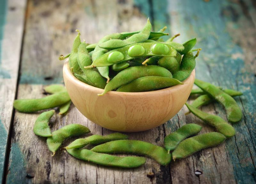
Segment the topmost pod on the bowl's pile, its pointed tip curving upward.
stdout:
<path fill-rule="evenodd" d="M 139 33 L 136 33 L 136 34 L 132 35 L 131 37 L 124 39 L 124 40 L 111 39 L 106 42 L 100 43 L 98 46 L 100 48 L 111 50 L 111 49 L 116 49 L 116 48 L 124 47 L 127 45 L 135 44 L 135 43 L 140 43 L 140 42 L 143 42 L 148 39 L 148 37 L 150 35 L 150 31 L 151 31 L 151 24 L 148 19 L 147 24 L 144 26 L 144 28 Z"/>

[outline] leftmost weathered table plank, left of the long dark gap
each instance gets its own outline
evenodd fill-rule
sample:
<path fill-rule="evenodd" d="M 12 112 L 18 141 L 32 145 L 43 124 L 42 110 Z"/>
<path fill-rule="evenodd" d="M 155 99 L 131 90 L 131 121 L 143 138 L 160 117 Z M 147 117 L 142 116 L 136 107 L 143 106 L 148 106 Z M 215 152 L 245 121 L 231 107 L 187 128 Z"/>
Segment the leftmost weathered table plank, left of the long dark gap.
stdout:
<path fill-rule="evenodd" d="M 1 1 L 0 6 L 0 182 L 4 173 L 12 103 L 18 78 L 26 0 Z"/>

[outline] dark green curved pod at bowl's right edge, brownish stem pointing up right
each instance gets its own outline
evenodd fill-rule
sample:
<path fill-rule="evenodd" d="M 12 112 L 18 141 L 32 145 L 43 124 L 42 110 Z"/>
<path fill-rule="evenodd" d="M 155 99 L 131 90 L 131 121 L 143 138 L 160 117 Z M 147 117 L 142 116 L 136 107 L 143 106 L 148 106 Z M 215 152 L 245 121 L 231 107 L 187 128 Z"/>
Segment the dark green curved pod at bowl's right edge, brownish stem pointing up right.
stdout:
<path fill-rule="evenodd" d="M 196 56 L 194 56 L 192 52 L 184 54 L 180 62 L 180 70 L 173 74 L 173 78 L 179 81 L 186 80 L 196 66 L 195 58 L 198 56 L 198 54 L 199 51 L 197 51 Z"/>

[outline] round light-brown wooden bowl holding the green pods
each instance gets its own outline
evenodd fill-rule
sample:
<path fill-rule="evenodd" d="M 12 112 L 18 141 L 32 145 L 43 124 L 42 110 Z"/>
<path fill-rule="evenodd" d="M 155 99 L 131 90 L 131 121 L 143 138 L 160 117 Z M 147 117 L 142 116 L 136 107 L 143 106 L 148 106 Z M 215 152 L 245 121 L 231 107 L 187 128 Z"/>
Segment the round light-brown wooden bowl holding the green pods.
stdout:
<path fill-rule="evenodd" d="M 63 66 L 68 94 L 76 108 L 92 122 L 114 131 L 138 132 L 155 128 L 171 119 L 186 103 L 194 84 L 195 70 L 183 85 L 157 91 L 127 93 L 109 91 L 85 84 Z"/>

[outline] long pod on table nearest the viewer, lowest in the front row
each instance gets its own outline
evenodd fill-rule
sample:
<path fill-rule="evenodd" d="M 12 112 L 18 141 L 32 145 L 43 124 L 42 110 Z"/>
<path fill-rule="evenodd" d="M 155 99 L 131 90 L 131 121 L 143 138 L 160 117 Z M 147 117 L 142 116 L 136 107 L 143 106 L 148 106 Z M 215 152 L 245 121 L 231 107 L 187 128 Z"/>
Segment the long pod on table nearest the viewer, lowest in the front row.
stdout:
<path fill-rule="evenodd" d="M 113 155 L 96 153 L 86 149 L 68 149 L 67 152 L 77 159 L 89 161 L 103 166 L 135 168 L 146 162 L 143 157 L 117 157 Z"/>

